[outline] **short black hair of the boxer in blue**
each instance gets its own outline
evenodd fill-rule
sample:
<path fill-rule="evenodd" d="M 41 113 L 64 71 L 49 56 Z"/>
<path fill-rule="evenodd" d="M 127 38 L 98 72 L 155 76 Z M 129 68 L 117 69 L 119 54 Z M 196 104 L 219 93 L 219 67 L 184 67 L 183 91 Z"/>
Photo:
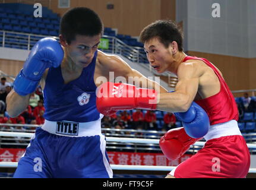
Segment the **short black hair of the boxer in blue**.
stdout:
<path fill-rule="evenodd" d="M 70 44 L 77 34 L 84 36 L 103 34 L 103 23 L 99 15 L 89 8 L 72 8 L 61 18 L 59 34 L 62 34 Z"/>

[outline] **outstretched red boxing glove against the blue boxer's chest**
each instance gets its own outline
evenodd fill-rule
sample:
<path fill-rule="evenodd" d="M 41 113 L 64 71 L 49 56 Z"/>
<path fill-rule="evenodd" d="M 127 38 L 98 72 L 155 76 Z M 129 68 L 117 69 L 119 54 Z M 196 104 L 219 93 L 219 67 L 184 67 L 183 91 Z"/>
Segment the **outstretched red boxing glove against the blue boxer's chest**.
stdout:
<path fill-rule="evenodd" d="M 97 88 L 96 106 L 100 113 L 109 115 L 115 110 L 156 110 L 157 92 L 124 83 L 104 83 Z"/>

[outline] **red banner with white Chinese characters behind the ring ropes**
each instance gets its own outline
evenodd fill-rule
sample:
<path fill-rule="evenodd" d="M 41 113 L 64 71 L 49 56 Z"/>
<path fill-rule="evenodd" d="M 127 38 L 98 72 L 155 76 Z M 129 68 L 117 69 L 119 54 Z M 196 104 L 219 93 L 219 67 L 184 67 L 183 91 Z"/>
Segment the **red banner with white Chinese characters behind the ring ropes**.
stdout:
<path fill-rule="evenodd" d="M 0 162 L 18 162 L 25 150 L 20 148 L 0 148 Z M 120 165 L 178 166 L 178 164 L 191 156 L 191 154 L 184 154 L 178 160 L 170 162 L 161 153 L 108 152 L 110 164 Z"/>

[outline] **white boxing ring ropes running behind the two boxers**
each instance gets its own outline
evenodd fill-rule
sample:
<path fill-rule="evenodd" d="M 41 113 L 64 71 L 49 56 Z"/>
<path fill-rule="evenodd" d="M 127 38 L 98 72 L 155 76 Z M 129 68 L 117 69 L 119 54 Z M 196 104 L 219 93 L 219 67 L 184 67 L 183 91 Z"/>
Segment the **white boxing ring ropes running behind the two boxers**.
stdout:
<path fill-rule="evenodd" d="M 33 133 L 26 132 L 3 132 L 0 131 L 2 137 L 33 137 Z M 106 141 L 119 143 L 143 143 L 143 144 L 159 144 L 157 139 L 143 138 L 118 138 L 106 137 Z M 194 145 L 203 146 L 206 142 L 196 142 Z M 248 148 L 256 148 L 256 144 L 247 144 Z M 0 167 L 17 167 L 18 162 L 0 162 Z M 110 164 L 113 170 L 150 170 L 150 171 L 171 171 L 175 166 L 135 166 L 135 165 L 118 165 Z M 256 173 L 256 168 L 249 169 L 248 173 Z"/>

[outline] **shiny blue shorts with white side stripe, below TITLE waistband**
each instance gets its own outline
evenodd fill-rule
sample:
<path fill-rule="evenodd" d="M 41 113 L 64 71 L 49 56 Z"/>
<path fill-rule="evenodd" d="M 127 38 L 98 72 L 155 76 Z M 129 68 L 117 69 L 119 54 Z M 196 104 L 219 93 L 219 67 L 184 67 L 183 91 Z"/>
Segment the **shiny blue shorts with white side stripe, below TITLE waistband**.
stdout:
<path fill-rule="evenodd" d="M 112 178 L 102 134 L 67 137 L 37 128 L 14 178 Z"/>

